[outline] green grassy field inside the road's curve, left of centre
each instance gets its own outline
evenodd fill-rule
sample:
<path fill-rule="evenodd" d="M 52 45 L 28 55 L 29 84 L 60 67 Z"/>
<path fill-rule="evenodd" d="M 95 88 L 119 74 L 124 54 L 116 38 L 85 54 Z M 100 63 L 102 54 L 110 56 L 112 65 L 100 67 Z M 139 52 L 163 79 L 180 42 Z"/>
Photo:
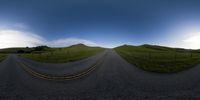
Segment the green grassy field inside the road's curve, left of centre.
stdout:
<path fill-rule="evenodd" d="M 22 57 L 47 63 L 65 63 L 84 59 L 102 52 L 100 47 L 88 47 L 83 44 L 66 48 L 49 48 L 43 53 L 22 54 Z"/>

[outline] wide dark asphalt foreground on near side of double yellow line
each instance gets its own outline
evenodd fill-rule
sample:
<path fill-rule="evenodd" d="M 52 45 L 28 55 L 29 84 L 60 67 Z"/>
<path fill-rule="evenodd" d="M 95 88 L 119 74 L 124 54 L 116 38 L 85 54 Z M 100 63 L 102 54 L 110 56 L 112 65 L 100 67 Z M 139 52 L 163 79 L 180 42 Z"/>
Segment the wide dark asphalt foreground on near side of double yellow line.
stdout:
<path fill-rule="evenodd" d="M 98 59 L 95 70 L 74 80 L 35 77 L 19 64 L 21 58 L 10 55 L 0 63 L 0 100 L 200 99 L 200 66 L 158 74 L 130 65 L 113 50 L 101 55 L 104 56 Z M 33 67 L 30 62 L 23 62 Z"/>

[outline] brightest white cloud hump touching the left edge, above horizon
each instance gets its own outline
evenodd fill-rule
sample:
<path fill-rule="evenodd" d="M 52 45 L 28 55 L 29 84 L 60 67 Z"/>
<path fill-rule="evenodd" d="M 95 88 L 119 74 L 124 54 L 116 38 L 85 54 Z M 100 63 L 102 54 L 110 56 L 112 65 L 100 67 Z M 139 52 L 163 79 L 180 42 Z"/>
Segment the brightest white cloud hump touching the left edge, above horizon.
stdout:
<path fill-rule="evenodd" d="M 33 33 L 17 30 L 0 30 L 0 48 L 26 47 L 45 44 L 45 40 Z"/>

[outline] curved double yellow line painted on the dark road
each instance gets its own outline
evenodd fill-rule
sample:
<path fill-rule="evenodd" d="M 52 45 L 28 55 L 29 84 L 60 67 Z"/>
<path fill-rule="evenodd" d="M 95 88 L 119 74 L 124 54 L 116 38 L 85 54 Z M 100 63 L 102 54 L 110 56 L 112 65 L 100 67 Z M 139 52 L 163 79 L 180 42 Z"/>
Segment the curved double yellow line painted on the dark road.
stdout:
<path fill-rule="evenodd" d="M 31 74 L 34 77 L 41 78 L 44 80 L 74 80 L 74 79 L 82 78 L 82 77 L 88 75 L 89 73 L 91 73 L 92 71 L 94 71 L 96 69 L 97 65 L 102 62 L 103 61 L 98 60 L 90 68 L 88 68 L 80 73 L 74 74 L 74 75 L 53 76 L 53 75 L 47 75 L 47 74 L 43 74 L 43 73 L 34 71 L 33 69 L 29 68 L 26 64 L 18 61 L 18 63 L 21 65 L 21 67 L 26 72 L 28 72 L 29 74 Z"/>

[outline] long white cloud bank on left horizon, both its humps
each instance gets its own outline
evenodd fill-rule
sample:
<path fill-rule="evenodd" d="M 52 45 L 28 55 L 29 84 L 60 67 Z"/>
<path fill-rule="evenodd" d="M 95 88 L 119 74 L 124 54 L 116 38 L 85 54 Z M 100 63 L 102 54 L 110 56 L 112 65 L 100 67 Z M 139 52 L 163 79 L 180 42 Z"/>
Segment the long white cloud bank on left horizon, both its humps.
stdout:
<path fill-rule="evenodd" d="M 45 38 L 30 32 L 0 29 L 0 48 L 10 47 L 34 47 L 39 45 L 48 45 L 51 47 L 65 47 L 73 44 L 83 43 L 88 46 L 98 46 L 96 43 L 79 39 L 63 38 L 53 41 L 47 41 Z"/>

